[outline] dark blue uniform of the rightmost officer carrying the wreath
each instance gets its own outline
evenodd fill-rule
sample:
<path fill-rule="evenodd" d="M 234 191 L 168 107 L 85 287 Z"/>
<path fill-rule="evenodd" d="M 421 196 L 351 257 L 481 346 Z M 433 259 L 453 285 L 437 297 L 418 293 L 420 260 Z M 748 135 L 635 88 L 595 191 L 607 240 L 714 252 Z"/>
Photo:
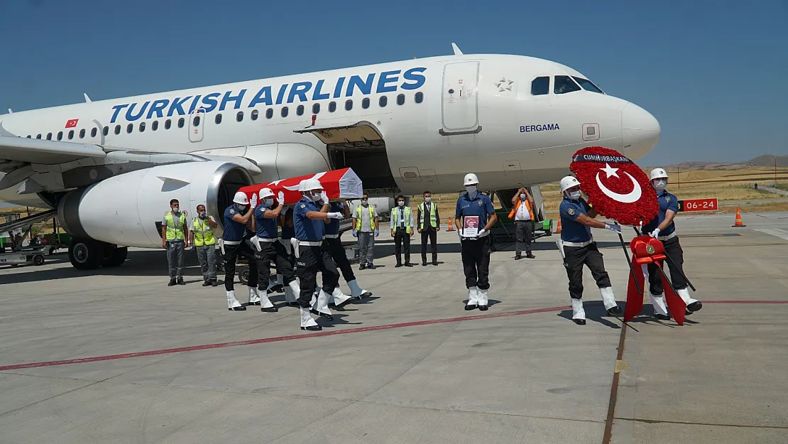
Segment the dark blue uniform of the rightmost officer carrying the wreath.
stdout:
<path fill-rule="evenodd" d="M 662 192 L 658 193 L 656 200 L 660 203 L 660 213 L 656 218 L 643 226 L 644 234 L 651 234 L 656 227 L 660 226 L 660 224 L 664 222 L 668 210 L 678 213 L 678 199 L 676 196 L 667 192 L 667 190 L 663 189 Z M 665 255 L 671 258 L 671 260 L 667 262 L 667 268 L 671 271 L 671 284 L 673 288 L 679 290 L 686 289 L 689 284 L 687 284 L 683 271 L 684 250 L 682 250 L 682 245 L 678 243 L 678 236 L 670 237 L 675 231 L 675 222 L 671 221 L 671 225 L 660 230 L 658 238 L 665 247 Z M 654 295 L 660 295 L 663 292 L 662 276 L 653 263 L 649 263 L 649 290 Z"/>

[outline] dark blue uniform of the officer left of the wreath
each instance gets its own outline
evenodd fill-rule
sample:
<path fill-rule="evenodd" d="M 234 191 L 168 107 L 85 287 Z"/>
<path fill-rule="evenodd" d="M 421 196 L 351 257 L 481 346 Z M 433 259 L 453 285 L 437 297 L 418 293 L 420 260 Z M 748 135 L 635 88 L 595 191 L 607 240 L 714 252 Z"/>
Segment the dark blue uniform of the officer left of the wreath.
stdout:
<path fill-rule="evenodd" d="M 591 237 L 591 228 L 585 226 L 577 219 L 580 215 L 588 216 L 591 209 L 584 199 L 579 201 L 564 197 L 559 212 L 561 215 L 561 241 L 572 242 L 575 244 L 589 244 L 580 246 L 570 246 L 564 244 L 563 267 L 567 269 L 569 278 L 569 296 L 572 299 L 583 297 L 583 265 L 589 267 L 594 281 L 600 289 L 611 286 L 608 272 L 604 270 L 604 260 L 602 253 L 597 248 L 597 243 Z"/>

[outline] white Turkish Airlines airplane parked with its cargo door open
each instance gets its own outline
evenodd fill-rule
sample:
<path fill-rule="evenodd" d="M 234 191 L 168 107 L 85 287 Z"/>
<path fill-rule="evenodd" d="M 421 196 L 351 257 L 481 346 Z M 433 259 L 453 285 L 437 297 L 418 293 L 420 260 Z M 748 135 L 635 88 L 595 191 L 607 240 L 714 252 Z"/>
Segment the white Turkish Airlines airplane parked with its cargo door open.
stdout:
<path fill-rule="evenodd" d="M 0 115 L 0 200 L 57 209 L 73 267 L 160 248 L 169 200 L 220 222 L 238 188 L 351 167 L 370 196 L 545 184 L 599 145 L 639 159 L 648 111 L 566 65 L 453 54 Z M 532 190 L 534 188 L 531 188 Z M 536 188 L 538 189 L 538 188 Z"/>

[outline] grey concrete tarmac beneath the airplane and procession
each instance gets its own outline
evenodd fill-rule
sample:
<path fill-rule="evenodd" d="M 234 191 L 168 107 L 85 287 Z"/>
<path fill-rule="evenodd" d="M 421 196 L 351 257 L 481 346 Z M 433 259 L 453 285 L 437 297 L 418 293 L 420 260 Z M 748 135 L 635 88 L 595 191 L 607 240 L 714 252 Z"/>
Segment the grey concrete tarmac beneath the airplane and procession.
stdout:
<path fill-rule="evenodd" d="M 572 323 L 556 234 L 536 259 L 499 244 L 492 305 L 466 312 L 455 233 L 437 267 L 417 234 L 412 268 L 381 233 L 377 269 L 355 266 L 373 297 L 314 333 L 281 293 L 277 313 L 229 312 L 193 253 L 174 287 L 163 251 L 0 267 L 0 442 L 788 442 L 788 213 L 743 218 L 677 218 L 704 304 L 683 326 L 648 297 L 623 326 L 588 271 L 589 321 Z M 618 237 L 594 236 L 623 307 Z"/>

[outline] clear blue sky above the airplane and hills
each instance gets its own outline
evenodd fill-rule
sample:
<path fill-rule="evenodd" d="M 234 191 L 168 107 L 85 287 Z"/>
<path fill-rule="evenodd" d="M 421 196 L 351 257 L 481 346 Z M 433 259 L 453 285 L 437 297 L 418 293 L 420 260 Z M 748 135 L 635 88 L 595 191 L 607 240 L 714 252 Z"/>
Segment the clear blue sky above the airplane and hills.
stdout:
<path fill-rule="evenodd" d="M 662 125 L 645 164 L 788 154 L 786 0 L 0 2 L 0 110 L 450 54 L 452 41 L 570 65 L 643 106 Z"/>

